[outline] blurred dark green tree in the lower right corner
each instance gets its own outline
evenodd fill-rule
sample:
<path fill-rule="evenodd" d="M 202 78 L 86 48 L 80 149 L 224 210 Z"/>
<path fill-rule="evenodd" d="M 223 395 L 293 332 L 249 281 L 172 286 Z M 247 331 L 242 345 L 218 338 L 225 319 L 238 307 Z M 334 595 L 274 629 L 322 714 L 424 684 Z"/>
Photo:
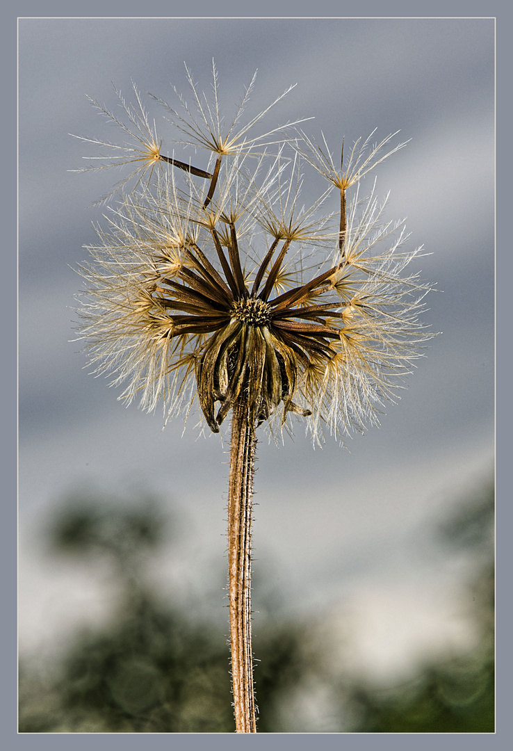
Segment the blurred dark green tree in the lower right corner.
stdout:
<path fill-rule="evenodd" d="M 412 683 L 387 691 L 354 686 L 360 732 L 493 733 L 495 729 L 493 484 L 463 502 L 439 527 L 439 542 L 466 550 L 478 564 L 469 584 L 472 617 L 481 641 L 466 656 L 427 665 Z"/>

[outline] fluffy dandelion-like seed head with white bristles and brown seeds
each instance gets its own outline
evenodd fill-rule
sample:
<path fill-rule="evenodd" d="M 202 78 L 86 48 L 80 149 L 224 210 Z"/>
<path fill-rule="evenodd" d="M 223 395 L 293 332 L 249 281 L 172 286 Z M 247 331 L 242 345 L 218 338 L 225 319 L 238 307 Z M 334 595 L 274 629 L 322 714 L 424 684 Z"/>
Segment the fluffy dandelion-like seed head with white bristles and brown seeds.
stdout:
<path fill-rule="evenodd" d="M 168 415 L 197 398 L 215 433 L 239 403 L 255 425 L 296 415 L 317 441 L 376 424 L 430 336 L 419 321 L 429 285 L 405 273 L 419 251 L 403 249 L 403 224 L 383 219 L 375 185 L 361 196 L 361 179 L 403 144 L 382 155 L 391 137 L 357 142 L 337 167 L 324 138 L 279 128 L 252 138 L 270 109 L 240 125 L 252 84 L 223 131 L 216 71 L 213 104 L 188 77 L 195 113 L 183 98 L 182 113 L 167 110 L 186 143 L 210 152 L 206 169 L 175 151 L 162 158 L 137 92 L 136 108 L 122 100 L 131 128 L 108 115 L 139 145 L 120 147 L 114 163 L 137 165 L 122 188 L 137 179 L 80 269 L 79 336 L 95 372 L 125 383 L 128 403 L 162 402 Z M 305 167 L 327 180 L 306 208 Z"/>

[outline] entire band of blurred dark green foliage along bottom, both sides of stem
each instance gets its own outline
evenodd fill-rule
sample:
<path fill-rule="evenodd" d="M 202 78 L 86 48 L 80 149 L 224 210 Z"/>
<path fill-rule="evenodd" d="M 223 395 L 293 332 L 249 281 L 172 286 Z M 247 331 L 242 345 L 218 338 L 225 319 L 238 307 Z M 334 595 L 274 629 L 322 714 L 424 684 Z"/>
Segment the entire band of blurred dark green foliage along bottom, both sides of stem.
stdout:
<path fill-rule="evenodd" d="M 258 731 L 284 732 L 280 709 L 308 676 L 324 681 L 339 704 L 338 727 L 370 733 L 490 733 L 494 728 L 493 493 L 449 519 L 442 544 L 466 547 L 482 561 L 469 585 L 481 627 L 474 653 L 426 665 L 412 682 L 386 690 L 323 674 L 315 629 L 258 623 L 254 649 Z M 69 499 L 50 527 L 51 547 L 66 556 L 110 562 L 120 593 L 110 624 L 77 635 L 46 678 L 20 668 L 23 733 L 234 732 L 225 631 L 192 622 L 144 583 L 144 556 L 169 538 L 155 502 L 112 504 Z M 222 593 L 219 593 L 220 600 Z M 228 620 L 228 614 L 227 614 Z M 314 644 L 314 647 L 312 647 Z M 300 720 L 300 718 L 298 718 Z M 336 718 L 335 718 L 336 721 Z M 322 731 L 323 728 L 319 728 Z"/>

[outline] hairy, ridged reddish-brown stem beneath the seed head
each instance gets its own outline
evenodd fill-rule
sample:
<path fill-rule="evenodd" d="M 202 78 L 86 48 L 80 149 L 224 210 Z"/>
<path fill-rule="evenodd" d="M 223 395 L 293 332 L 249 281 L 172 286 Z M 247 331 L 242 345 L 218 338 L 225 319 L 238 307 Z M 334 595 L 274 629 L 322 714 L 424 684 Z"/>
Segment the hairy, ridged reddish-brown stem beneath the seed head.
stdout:
<path fill-rule="evenodd" d="M 235 403 L 231 420 L 228 487 L 228 587 L 231 682 L 237 733 L 256 732 L 251 646 L 251 523 L 255 446 L 255 422 L 250 418 L 248 406 Z"/>

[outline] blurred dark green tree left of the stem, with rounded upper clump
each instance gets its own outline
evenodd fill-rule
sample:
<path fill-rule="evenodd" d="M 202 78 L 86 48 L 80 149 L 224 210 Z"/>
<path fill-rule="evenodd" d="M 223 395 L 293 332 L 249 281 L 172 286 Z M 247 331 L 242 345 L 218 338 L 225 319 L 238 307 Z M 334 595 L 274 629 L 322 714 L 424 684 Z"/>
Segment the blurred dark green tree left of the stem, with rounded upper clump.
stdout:
<path fill-rule="evenodd" d="M 77 637 L 51 687 L 22 703 L 20 731 L 231 731 L 228 646 L 219 649 L 216 636 L 162 605 L 143 581 L 144 554 L 155 551 L 164 529 L 148 499 L 127 508 L 79 497 L 53 518 L 53 550 L 107 556 L 122 603 L 110 626 Z"/>

